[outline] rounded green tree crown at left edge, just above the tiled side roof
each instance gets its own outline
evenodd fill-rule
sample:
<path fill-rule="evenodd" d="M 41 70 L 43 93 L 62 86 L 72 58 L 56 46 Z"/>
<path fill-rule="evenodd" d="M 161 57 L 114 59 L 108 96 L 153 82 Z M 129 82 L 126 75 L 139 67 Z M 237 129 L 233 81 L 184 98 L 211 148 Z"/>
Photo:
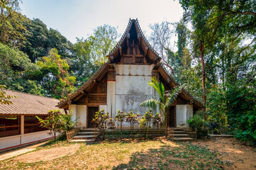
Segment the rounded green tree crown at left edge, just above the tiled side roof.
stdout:
<path fill-rule="evenodd" d="M 39 69 L 16 47 L 0 43 L 0 84 L 12 90 L 43 96 L 45 91 L 37 80 Z"/>

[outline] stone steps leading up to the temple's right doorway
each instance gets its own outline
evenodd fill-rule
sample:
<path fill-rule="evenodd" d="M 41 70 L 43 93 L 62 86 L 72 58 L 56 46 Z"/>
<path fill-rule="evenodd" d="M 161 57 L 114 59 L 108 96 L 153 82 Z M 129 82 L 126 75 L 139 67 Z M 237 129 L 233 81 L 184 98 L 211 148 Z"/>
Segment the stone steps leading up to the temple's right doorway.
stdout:
<path fill-rule="evenodd" d="M 178 142 L 186 142 L 186 141 L 194 141 L 193 138 L 189 137 L 189 135 L 182 128 L 172 128 L 168 129 L 168 137 L 172 137 L 172 130 L 174 130 L 174 141 Z"/>

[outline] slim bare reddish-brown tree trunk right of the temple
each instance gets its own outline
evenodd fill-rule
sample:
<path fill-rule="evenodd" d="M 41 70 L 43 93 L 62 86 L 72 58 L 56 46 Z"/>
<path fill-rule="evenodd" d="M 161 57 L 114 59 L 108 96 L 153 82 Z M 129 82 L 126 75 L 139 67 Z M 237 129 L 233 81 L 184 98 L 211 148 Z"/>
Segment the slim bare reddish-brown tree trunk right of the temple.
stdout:
<path fill-rule="evenodd" d="M 204 42 L 201 41 L 200 56 L 202 65 L 202 84 L 203 84 L 203 105 L 204 105 L 204 120 L 206 120 L 206 74 L 204 70 Z"/>

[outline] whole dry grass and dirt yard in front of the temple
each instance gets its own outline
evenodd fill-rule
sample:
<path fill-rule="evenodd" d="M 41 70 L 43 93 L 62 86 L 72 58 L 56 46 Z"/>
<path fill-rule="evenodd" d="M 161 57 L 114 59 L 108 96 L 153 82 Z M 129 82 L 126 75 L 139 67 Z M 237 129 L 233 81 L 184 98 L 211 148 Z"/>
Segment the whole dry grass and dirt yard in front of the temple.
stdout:
<path fill-rule="evenodd" d="M 60 142 L 0 162 L 0 169 L 256 169 L 256 148 L 234 138 L 197 142 Z"/>

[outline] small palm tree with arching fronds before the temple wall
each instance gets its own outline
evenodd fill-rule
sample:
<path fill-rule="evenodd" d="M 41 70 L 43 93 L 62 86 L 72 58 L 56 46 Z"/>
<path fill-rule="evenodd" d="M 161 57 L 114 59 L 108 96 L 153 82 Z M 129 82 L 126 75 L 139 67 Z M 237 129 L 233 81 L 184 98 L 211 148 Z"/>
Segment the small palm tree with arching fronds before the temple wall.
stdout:
<path fill-rule="evenodd" d="M 169 105 L 177 98 L 179 91 L 182 89 L 182 86 L 176 87 L 169 92 L 169 94 L 165 94 L 165 86 L 158 82 L 155 77 L 152 77 L 152 81 L 149 81 L 148 84 L 152 86 L 157 93 L 159 94 L 159 98 L 150 98 L 143 103 L 140 103 L 140 106 L 153 108 L 156 109 L 157 107 L 159 110 L 164 113 L 165 115 L 165 137 L 167 137 L 167 114 Z"/>

